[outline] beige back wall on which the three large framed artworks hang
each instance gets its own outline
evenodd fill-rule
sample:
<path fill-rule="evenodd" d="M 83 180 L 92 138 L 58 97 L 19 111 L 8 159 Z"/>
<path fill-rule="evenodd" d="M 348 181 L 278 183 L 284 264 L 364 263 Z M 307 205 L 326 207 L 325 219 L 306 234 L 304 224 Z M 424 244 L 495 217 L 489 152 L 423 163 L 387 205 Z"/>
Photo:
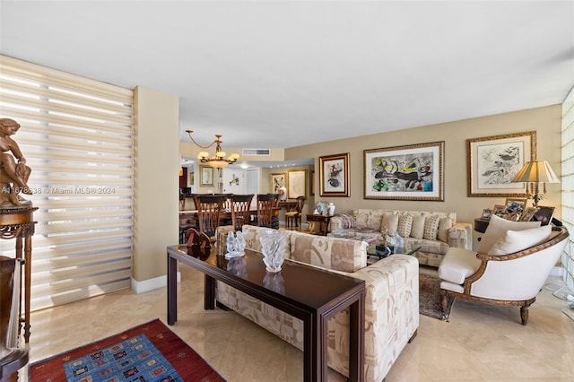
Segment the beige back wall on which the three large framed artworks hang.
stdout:
<path fill-rule="evenodd" d="M 334 202 L 335 213 L 349 213 L 353 208 L 430 210 L 456 212 L 458 221 L 472 223 L 484 208 L 504 204 L 505 198 L 466 196 L 466 139 L 526 131 L 537 132 L 538 158 L 549 161 L 560 177 L 561 105 L 298 146 L 285 150 L 285 160 L 315 158 L 318 169 L 319 156 L 349 152 L 351 196 L 322 198 L 318 192 L 315 195 L 315 202 Z M 444 202 L 363 199 L 363 150 L 438 141 L 445 142 Z M 318 170 L 314 181 L 318 190 Z M 547 188 L 549 197 L 540 204 L 556 206 L 555 216 L 559 217 L 561 185 L 552 184 Z"/>

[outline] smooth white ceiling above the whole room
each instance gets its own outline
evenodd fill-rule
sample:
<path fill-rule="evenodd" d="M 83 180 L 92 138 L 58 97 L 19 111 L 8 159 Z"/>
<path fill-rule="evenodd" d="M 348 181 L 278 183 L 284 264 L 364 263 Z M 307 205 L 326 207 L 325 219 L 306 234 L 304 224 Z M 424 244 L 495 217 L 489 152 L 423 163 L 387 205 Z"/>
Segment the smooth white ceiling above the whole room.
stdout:
<path fill-rule="evenodd" d="M 572 1 L 2 1 L 0 51 L 180 97 L 223 148 L 282 148 L 560 103 Z"/>

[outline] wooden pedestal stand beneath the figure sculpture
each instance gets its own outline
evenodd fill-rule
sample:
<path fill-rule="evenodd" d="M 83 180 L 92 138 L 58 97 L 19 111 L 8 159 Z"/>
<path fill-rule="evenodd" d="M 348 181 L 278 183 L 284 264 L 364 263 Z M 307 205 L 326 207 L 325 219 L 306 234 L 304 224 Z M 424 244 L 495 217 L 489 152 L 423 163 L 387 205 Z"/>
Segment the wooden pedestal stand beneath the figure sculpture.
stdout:
<path fill-rule="evenodd" d="M 0 239 L 16 239 L 16 254 L 18 259 L 24 259 L 23 289 L 24 302 L 20 305 L 20 320 L 24 324 L 24 340 L 30 340 L 30 274 L 32 265 L 32 235 L 34 234 L 34 211 L 38 207 L 0 207 Z M 22 256 L 22 239 L 23 256 Z M 22 279 L 20 283 L 20 296 L 22 299 Z M 24 316 L 22 318 L 22 305 Z"/>

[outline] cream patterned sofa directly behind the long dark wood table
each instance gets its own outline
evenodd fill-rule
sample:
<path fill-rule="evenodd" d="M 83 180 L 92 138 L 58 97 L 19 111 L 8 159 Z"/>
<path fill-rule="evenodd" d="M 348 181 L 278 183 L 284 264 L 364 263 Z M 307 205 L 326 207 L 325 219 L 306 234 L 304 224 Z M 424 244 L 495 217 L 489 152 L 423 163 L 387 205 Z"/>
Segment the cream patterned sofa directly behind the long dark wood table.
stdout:
<path fill-rule="evenodd" d="M 264 228 L 244 225 L 246 247 L 261 252 Z M 396 255 L 367 266 L 367 243 L 285 230 L 286 261 L 317 266 L 365 281 L 365 380 L 381 381 L 419 326 L 419 269 L 413 256 Z M 222 245 L 219 240 L 218 245 Z M 320 285 L 317 285 L 320 288 Z M 216 298 L 224 306 L 303 349 L 303 326 L 245 293 L 217 282 Z M 328 365 L 349 375 L 349 312 L 328 322 Z"/>

